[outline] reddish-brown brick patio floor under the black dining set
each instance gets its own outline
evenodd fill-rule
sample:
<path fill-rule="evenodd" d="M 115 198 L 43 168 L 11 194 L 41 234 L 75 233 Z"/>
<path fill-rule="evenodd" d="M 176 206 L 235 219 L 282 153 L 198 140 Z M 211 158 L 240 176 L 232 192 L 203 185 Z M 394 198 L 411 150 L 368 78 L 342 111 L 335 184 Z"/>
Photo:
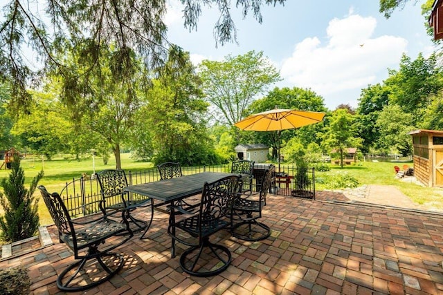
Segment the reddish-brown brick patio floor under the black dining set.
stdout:
<path fill-rule="evenodd" d="M 215 237 L 233 263 L 218 276 L 195 278 L 170 258 L 167 215 L 158 211 L 147 240 L 134 237 L 118 251 L 127 263 L 87 294 L 443 294 L 443 216 L 346 203 L 340 193 L 317 200 L 270 195 L 262 222 L 272 235 L 261 242 Z M 329 202 L 338 200 L 341 202 Z M 143 214 L 144 212 L 138 210 Z M 57 274 L 73 261 L 55 245 L 0 262 L 23 265 L 32 294 L 57 294 Z"/>

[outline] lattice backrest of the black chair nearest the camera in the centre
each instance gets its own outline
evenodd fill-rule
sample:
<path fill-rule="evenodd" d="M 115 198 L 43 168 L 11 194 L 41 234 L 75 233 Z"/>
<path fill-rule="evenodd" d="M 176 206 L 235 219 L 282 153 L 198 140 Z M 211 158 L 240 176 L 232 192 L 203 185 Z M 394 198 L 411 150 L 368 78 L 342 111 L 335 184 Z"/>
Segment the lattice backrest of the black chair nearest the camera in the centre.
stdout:
<path fill-rule="evenodd" d="M 200 229 L 230 214 L 232 204 L 238 196 L 239 180 L 239 176 L 230 175 L 204 184 L 199 211 Z"/>

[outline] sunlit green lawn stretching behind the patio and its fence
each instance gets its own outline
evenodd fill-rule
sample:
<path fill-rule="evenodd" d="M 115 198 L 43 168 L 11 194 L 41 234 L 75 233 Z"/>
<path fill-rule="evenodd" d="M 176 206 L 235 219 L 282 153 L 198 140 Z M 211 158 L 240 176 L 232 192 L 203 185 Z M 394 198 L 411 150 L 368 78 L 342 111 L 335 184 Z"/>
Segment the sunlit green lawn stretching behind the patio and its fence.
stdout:
<path fill-rule="evenodd" d="M 21 161 L 21 166 L 25 172 L 27 188 L 32 178 L 43 169 L 45 175 L 39 184 L 43 184 L 49 191 L 60 192 L 64 184 L 73 180 L 73 178 L 80 178 L 83 173 L 91 175 L 91 173 L 93 173 L 92 162 L 92 158 L 80 161 L 55 158 L 54 160 L 44 162 L 37 158 L 28 158 Z M 394 162 L 360 162 L 357 165 L 344 166 L 343 169 L 338 165 L 332 165 L 331 171 L 316 171 L 316 177 L 327 177 L 327 175 L 331 175 L 332 173 L 347 173 L 359 181 L 359 186 L 363 184 L 393 185 L 417 204 L 423 204 L 429 209 L 443 210 L 443 189 L 422 187 L 415 183 L 403 182 L 396 179 L 394 171 L 395 164 Z M 401 163 L 399 166 L 403 164 L 404 163 Z M 406 164 L 413 166 L 412 162 Z M 96 171 L 113 169 L 115 166 L 114 159 L 110 159 L 107 165 L 103 164 L 101 158 L 95 159 Z M 122 166 L 125 170 L 143 171 L 152 168 L 153 164 L 150 162 L 136 162 L 130 158 L 129 153 L 124 153 L 122 154 Z M 9 173 L 10 170 L 0 170 L 0 180 L 8 178 Z M 325 187 L 323 187 L 322 184 L 316 184 L 316 190 L 320 191 L 323 189 L 325 189 Z M 35 196 L 38 198 L 39 193 L 36 192 Z M 39 214 L 42 225 L 52 223 L 41 198 L 39 199 Z"/>

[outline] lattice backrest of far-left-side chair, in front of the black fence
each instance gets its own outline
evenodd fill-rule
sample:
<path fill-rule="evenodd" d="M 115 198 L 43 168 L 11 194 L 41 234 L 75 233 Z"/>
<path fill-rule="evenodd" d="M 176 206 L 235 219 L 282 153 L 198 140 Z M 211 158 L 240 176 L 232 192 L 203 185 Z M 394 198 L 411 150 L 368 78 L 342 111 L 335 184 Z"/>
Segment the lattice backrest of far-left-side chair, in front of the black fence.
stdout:
<path fill-rule="evenodd" d="M 100 184 L 100 193 L 107 200 L 107 206 L 121 202 L 120 198 L 127 187 L 127 179 L 124 170 L 107 169 L 97 173 L 98 184 Z M 118 197 L 118 198 L 112 198 Z"/>

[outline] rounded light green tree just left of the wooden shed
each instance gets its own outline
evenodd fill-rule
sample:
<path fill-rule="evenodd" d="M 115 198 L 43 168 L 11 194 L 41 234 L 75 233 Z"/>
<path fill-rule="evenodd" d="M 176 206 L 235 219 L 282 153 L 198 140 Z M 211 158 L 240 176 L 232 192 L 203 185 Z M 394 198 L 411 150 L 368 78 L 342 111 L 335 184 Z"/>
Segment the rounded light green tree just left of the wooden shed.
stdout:
<path fill-rule="evenodd" d="M 377 119 L 377 129 L 380 136 L 377 146 L 386 153 L 401 153 L 410 155 L 412 153 L 412 138 L 408 135 L 415 127 L 412 122 L 412 115 L 404 113 L 398 105 L 385 106 Z"/>

